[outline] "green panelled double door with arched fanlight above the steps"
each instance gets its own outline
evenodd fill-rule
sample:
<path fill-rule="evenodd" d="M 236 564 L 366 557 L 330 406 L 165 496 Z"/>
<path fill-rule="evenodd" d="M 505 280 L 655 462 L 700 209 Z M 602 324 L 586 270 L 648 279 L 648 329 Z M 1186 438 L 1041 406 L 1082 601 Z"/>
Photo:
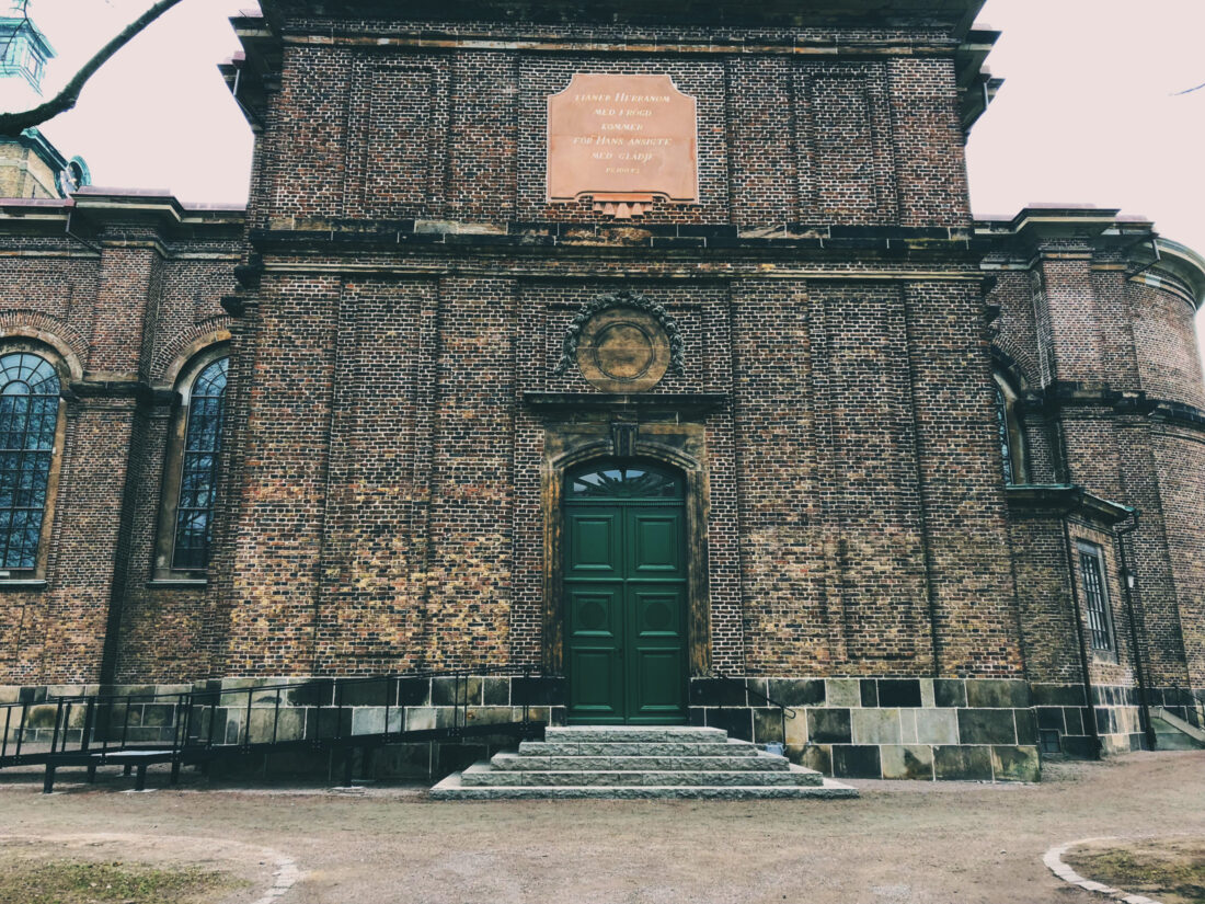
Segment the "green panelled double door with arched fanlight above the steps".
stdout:
<path fill-rule="evenodd" d="M 565 481 L 569 721 L 686 722 L 684 485 L 637 462 Z"/>

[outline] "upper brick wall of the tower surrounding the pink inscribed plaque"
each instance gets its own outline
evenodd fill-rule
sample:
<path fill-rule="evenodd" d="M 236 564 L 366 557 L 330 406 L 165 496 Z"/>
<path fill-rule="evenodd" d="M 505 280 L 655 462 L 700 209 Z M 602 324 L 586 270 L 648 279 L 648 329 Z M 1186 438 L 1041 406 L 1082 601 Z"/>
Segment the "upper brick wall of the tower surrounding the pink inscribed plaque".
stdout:
<path fill-rule="evenodd" d="M 649 34 L 565 25 L 549 34 L 502 23 L 339 22 L 339 37 L 322 46 L 292 37 L 310 29 L 328 34 L 331 23 L 289 23 L 280 94 L 265 116 L 266 204 L 252 204 L 257 225 L 337 217 L 593 223 L 589 202 L 546 201 L 547 96 L 574 72 L 668 74 L 698 100 L 699 202 L 658 200 L 643 222 L 969 223 L 956 45 L 927 28 Z M 534 45 L 470 46 L 483 29 Z M 407 42 L 419 31 L 442 33 L 443 52 Z M 381 35 L 389 37 L 364 47 L 364 36 Z M 712 47 L 717 39 L 766 49 L 725 54 Z M 662 49 L 612 53 L 634 40 Z M 821 52 L 834 40 L 912 42 L 922 58 L 876 49 L 878 59 L 834 61 Z M 790 51 L 801 41 L 817 49 Z"/>

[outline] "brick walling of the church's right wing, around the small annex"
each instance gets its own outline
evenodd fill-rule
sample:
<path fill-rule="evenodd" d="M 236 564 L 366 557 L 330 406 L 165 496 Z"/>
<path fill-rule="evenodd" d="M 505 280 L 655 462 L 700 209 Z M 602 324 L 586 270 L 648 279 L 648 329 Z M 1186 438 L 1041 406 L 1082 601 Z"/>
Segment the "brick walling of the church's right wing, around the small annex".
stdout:
<path fill-rule="evenodd" d="M 1036 391 L 1023 405 L 1030 480 L 1082 485 L 1139 511 L 1140 527 L 1125 542 L 1138 580 L 1142 667 L 1153 687 L 1199 686 L 1188 648 L 1200 636 L 1205 494 L 1189 460 L 1205 422 L 1191 410 L 1160 413 L 1168 403 L 1199 410 L 1205 394 L 1193 306 L 1168 272 L 1128 280 L 1127 269 L 1136 265 L 1103 239 L 1039 241 L 1038 252 L 1035 270 L 1003 272 L 992 292 L 1001 311 L 994 342 Z M 1048 627 L 1070 600 L 1068 591 L 1058 600 L 1053 540 L 1042 545 L 1036 536 L 1056 527 L 1027 522 L 1013 529 L 1027 667 L 1040 681 L 1066 670 L 1066 639 Z M 1116 551 L 1109 569 L 1116 581 Z M 1028 581 L 1034 586 L 1027 588 Z M 1111 599 L 1117 605 L 1119 598 Z M 1101 673 L 1095 680 L 1129 685 L 1135 663 L 1128 621 L 1118 616 L 1115 624 L 1118 664 L 1094 665 Z"/>

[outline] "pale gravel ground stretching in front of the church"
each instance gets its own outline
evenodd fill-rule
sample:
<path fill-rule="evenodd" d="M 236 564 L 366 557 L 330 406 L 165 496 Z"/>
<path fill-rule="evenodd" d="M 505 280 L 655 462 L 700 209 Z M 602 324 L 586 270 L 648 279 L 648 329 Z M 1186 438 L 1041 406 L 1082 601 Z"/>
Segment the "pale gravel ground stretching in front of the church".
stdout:
<path fill-rule="evenodd" d="M 858 781 L 862 799 L 845 802 L 433 803 L 406 788 L 198 783 L 139 794 L 120 793 L 130 780 L 89 788 L 70 773 L 45 797 L 35 775 L 0 777 L 0 835 L 47 839 L 60 856 L 64 835 L 78 846 L 119 833 L 128 859 L 145 850 L 258 876 L 231 903 L 265 894 L 271 849 L 300 870 L 281 904 L 1074 904 L 1103 898 L 1053 876 L 1048 847 L 1205 837 L 1203 751 L 1047 764 L 1028 786 Z"/>

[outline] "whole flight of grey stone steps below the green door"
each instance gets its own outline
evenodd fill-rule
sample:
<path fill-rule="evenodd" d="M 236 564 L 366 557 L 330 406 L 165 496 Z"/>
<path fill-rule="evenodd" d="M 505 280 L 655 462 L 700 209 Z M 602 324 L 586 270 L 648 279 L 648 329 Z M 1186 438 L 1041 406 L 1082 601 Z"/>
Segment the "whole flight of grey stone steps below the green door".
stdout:
<path fill-rule="evenodd" d="M 719 728 L 571 726 L 431 788 L 436 800 L 850 798 L 858 792 Z"/>

